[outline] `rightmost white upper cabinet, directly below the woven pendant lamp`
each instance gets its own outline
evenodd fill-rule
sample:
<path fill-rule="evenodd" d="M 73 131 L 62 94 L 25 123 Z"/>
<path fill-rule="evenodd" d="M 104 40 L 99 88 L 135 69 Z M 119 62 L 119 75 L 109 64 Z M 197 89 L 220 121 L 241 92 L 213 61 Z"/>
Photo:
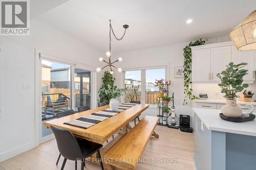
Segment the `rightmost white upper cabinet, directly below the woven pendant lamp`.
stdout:
<path fill-rule="evenodd" d="M 248 75 L 244 76 L 244 81 L 255 80 L 255 51 L 238 51 L 236 46 L 232 45 L 232 62 L 234 64 L 247 63 L 244 69 L 248 69 Z"/>

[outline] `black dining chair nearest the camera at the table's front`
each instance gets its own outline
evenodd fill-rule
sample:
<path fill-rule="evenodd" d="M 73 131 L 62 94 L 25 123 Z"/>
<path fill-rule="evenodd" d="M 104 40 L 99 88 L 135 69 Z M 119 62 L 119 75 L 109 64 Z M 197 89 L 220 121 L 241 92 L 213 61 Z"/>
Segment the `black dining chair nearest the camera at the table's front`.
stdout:
<path fill-rule="evenodd" d="M 75 161 L 75 169 L 77 170 L 77 159 L 80 159 L 81 170 L 83 170 L 85 162 L 83 159 L 88 158 L 97 152 L 101 169 L 104 170 L 101 155 L 99 149 L 103 147 L 102 144 L 94 143 L 86 139 L 76 139 L 75 136 L 66 129 L 59 129 L 51 126 L 54 136 L 57 141 L 58 150 L 60 154 L 64 157 L 61 170 L 63 170 L 67 159 Z"/>

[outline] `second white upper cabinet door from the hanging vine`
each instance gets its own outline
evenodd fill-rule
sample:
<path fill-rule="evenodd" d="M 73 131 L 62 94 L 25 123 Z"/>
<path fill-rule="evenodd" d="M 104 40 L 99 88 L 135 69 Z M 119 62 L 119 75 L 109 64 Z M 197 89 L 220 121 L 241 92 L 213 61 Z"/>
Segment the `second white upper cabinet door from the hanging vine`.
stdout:
<path fill-rule="evenodd" d="M 231 62 L 231 46 L 221 46 L 211 48 L 210 56 L 210 79 L 212 82 L 220 82 L 216 76 L 219 72 L 226 69 L 226 65 Z"/>

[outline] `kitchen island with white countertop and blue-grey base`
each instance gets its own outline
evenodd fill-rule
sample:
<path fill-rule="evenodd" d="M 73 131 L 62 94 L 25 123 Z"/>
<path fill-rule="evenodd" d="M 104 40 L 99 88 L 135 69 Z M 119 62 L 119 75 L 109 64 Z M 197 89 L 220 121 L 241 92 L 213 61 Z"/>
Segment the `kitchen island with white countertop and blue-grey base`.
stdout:
<path fill-rule="evenodd" d="M 233 123 L 220 110 L 193 108 L 194 161 L 200 170 L 256 169 L 256 120 Z"/>

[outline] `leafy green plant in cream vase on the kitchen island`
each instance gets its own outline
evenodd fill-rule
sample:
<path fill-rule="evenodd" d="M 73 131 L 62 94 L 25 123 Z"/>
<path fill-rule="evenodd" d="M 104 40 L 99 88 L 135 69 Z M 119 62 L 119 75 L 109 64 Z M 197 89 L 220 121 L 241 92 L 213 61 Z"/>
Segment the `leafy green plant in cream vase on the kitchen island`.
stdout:
<path fill-rule="evenodd" d="M 246 69 L 242 69 L 247 63 L 240 63 L 235 65 L 233 62 L 227 65 L 226 70 L 217 74 L 217 77 L 221 80 L 218 85 L 222 88 L 221 92 L 224 93 L 226 99 L 226 105 L 221 107 L 222 114 L 229 117 L 240 117 L 242 115 L 242 109 L 237 106 L 237 95 L 244 88 L 248 87 L 248 84 L 243 84 L 243 77 L 247 75 Z"/>

